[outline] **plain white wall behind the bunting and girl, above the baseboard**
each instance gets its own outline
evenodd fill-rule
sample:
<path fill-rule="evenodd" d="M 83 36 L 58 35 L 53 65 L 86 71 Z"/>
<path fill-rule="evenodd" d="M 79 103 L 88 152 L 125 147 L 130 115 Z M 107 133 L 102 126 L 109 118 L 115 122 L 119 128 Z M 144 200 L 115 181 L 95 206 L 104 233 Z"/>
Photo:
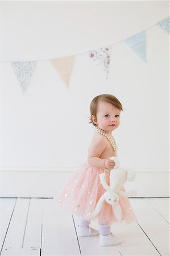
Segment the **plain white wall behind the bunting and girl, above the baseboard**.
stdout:
<path fill-rule="evenodd" d="M 90 101 L 110 93 L 125 109 L 113 134 L 122 165 L 167 172 L 169 35 L 154 24 L 168 15 L 164 1 L 2 2 L 2 170 L 74 170 L 93 136 Z M 147 28 L 143 63 L 122 40 Z M 67 89 L 48 61 L 111 43 L 108 80 L 80 54 Z M 24 95 L 10 60 L 44 60 Z"/>

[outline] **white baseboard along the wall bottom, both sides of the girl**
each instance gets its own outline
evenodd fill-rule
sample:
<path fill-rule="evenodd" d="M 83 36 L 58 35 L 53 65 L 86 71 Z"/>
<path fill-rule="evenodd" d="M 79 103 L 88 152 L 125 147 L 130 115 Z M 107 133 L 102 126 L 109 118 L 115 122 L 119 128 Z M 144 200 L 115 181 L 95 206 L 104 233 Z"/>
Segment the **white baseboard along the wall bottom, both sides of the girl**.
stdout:
<path fill-rule="evenodd" d="M 73 175 L 71 170 L 1 171 L 1 197 L 54 197 Z M 136 179 L 125 185 L 126 191 L 136 190 L 136 197 L 169 197 L 169 172 L 136 171 Z"/>

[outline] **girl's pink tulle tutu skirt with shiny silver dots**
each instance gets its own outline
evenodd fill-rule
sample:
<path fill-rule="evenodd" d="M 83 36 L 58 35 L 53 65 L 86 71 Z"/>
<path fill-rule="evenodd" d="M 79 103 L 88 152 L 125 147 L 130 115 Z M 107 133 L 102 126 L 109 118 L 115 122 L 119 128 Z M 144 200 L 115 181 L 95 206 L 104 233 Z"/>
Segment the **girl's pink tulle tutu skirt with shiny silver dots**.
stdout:
<path fill-rule="evenodd" d="M 110 185 L 110 171 L 104 168 L 82 164 L 69 179 L 63 189 L 60 189 L 56 199 L 61 207 L 73 214 L 77 214 L 90 220 L 90 216 L 96 207 L 99 198 L 106 192 L 100 183 L 99 174 L 106 174 L 106 182 Z M 121 189 L 125 191 L 124 188 Z M 122 221 L 127 224 L 136 221 L 136 216 L 127 197 L 119 196 L 119 205 L 122 208 Z M 117 222 L 112 206 L 104 203 L 104 206 L 93 218 L 98 224 L 113 224 Z"/>

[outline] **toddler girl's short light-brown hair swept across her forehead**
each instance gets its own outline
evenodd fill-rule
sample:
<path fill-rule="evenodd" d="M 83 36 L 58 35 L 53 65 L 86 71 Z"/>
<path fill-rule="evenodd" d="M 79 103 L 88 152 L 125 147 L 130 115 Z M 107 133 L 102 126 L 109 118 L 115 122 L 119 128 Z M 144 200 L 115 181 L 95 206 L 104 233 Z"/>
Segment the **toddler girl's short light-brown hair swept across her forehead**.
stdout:
<path fill-rule="evenodd" d="M 98 104 L 99 104 L 99 101 L 101 101 L 101 100 L 102 101 L 107 101 L 107 102 L 111 103 L 112 105 L 114 105 L 115 108 L 123 111 L 123 107 L 122 107 L 121 102 L 116 97 L 114 97 L 113 95 L 111 95 L 111 94 L 98 95 L 95 98 L 93 98 L 93 100 L 90 104 L 91 117 L 90 117 L 90 122 L 89 123 L 93 123 L 92 115 L 94 115 L 96 117 Z M 93 125 L 96 126 L 94 123 L 93 123 Z"/>

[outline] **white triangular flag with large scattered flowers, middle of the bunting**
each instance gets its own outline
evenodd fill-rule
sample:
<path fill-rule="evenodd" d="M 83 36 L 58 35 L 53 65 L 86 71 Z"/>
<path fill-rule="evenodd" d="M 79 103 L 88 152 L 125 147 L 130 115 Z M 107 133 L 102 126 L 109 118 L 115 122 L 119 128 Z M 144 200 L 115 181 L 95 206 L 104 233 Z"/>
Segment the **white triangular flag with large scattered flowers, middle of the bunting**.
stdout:
<path fill-rule="evenodd" d="M 111 47 L 102 47 L 100 49 L 96 49 L 94 51 L 89 52 L 89 57 L 92 59 L 99 68 L 101 68 L 108 78 L 109 74 L 109 64 L 110 64 L 110 55 L 111 55 Z"/>

